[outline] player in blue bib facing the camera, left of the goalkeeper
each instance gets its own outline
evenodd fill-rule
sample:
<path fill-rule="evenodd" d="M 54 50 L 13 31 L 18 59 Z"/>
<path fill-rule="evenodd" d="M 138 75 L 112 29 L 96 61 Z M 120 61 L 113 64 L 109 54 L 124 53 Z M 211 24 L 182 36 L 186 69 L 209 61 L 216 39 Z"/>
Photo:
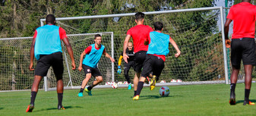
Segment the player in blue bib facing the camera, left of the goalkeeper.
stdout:
<path fill-rule="evenodd" d="M 85 79 L 83 80 L 80 92 L 77 95 L 79 97 L 83 96 L 83 91 L 87 92 L 89 96 L 92 96 L 91 89 L 93 89 L 93 87 L 98 85 L 99 83 L 103 82 L 103 76 L 97 67 L 97 64 L 100 61 L 101 55 L 105 55 L 112 62 L 115 62 L 115 59 L 113 59 L 106 52 L 105 46 L 101 44 L 101 39 L 102 38 L 101 38 L 100 34 L 96 34 L 94 36 L 95 43 L 88 46 L 87 49 L 85 49 L 84 52 L 82 52 L 82 54 L 81 54 L 78 70 L 82 71 L 82 69 L 84 69 Z M 84 55 L 86 55 L 85 58 L 84 58 Z M 84 60 L 83 60 L 83 58 L 84 58 Z M 93 83 L 90 84 L 90 86 L 85 88 L 85 86 L 87 85 L 87 83 L 90 80 L 90 77 L 92 77 L 92 75 L 93 75 L 93 77 L 96 78 L 96 80 L 94 80 Z"/>

